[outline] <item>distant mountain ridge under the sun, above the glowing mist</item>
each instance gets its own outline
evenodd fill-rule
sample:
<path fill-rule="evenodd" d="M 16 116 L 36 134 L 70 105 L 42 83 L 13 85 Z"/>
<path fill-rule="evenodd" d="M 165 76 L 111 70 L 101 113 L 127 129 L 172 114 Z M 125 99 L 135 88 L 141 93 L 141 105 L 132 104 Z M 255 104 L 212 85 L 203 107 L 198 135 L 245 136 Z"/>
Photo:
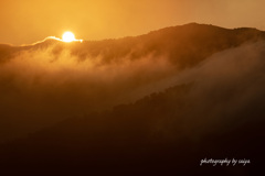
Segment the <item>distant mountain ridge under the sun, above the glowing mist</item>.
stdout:
<path fill-rule="evenodd" d="M 190 23 L 119 40 L 64 43 L 47 38 L 43 42 L 21 47 L 1 45 L 0 53 L 1 55 L 12 57 L 12 54 L 15 52 L 45 50 L 51 45 L 55 45 L 52 51 L 54 55 L 59 55 L 64 48 L 68 48 L 71 54 L 77 56 L 81 61 L 88 56 L 92 58 L 102 56 L 104 63 L 117 62 L 128 55 L 129 59 L 140 59 L 152 53 L 160 56 L 166 55 L 177 66 L 184 68 L 194 66 L 216 52 L 264 37 L 265 33 L 256 29 L 240 28 L 227 30 L 214 25 Z"/>

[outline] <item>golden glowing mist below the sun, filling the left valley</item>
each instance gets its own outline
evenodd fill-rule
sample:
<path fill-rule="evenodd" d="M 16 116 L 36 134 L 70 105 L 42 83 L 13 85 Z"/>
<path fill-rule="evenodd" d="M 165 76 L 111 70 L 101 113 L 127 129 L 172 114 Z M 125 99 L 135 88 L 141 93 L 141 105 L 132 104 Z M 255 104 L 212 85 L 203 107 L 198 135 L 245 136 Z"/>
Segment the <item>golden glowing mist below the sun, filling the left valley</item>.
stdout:
<path fill-rule="evenodd" d="M 23 46 L 0 64 L 1 135 L 131 102 L 152 91 L 142 92 L 142 87 L 174 72 L 168 59 L 152 52 L 137 59 L 129 52 L 112 58 L 84 47 L 47 38 Z"/>

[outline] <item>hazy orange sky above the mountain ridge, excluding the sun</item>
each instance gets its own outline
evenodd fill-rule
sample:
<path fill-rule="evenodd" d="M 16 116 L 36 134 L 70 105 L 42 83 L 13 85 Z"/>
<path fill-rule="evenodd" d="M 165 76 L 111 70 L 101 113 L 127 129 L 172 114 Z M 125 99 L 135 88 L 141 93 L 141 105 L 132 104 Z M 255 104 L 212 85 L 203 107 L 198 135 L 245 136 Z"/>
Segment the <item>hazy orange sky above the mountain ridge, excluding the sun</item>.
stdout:
<path fill-rule="evenodd" d="M 190 22 L 265 29 L 264 0 L 1 0 L 0 43 L 31 44 L 72 31 L 77 38 L 144 34 Z"/>

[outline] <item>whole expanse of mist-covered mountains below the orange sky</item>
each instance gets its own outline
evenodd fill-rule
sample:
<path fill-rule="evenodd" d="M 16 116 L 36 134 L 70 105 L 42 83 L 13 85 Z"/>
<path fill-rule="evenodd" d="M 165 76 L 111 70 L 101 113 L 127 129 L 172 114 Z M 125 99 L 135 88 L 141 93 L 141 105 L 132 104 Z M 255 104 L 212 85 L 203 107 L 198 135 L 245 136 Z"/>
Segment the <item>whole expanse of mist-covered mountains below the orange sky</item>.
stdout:
<path fill-rule="evenodd" d="M 191 23 L 119 40 L 0 45 L 0 140 L 28 136 L 1 145 L 1 165 L 184 173 L 208 156 L 245 157 L 254 164 L 220 174 L 248 175 L 262 160 L 264 38 Z"/>

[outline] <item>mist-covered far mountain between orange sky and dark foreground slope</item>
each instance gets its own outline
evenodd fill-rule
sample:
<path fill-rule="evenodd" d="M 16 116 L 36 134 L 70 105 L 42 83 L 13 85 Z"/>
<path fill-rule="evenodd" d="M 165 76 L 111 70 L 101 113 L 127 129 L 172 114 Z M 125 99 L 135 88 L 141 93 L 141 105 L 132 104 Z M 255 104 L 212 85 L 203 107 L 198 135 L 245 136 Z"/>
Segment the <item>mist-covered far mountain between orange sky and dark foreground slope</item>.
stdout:
<path fill-rule="evenodd" d="M 119 40 L 0 45 L 0 141 L 134 102 L 218 52 L 263 38 L 255 29 L 191 23 Z"/>

